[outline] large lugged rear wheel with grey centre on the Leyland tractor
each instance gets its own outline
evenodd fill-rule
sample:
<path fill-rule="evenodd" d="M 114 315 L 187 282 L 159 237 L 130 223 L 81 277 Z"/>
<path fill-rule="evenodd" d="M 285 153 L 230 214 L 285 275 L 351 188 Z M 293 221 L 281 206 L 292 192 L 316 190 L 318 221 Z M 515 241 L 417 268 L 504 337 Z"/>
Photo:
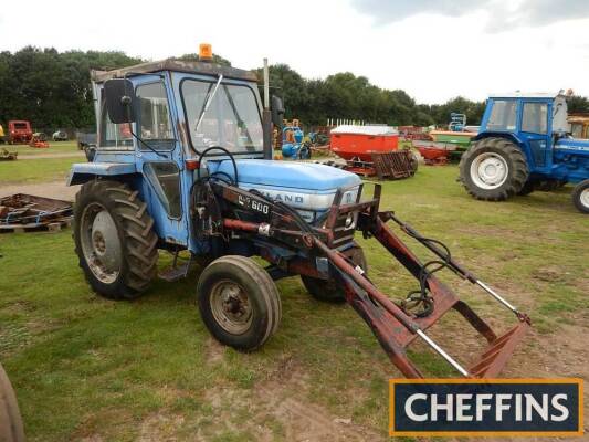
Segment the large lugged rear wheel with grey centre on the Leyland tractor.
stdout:
<path fill-rule="evenodd" d="M 133 299 L 157 272 L 157 235 L 136 190 L 117 181 L 90 181 L 74 204 L 74 242 L 80 266 L 97 294 Z"/>

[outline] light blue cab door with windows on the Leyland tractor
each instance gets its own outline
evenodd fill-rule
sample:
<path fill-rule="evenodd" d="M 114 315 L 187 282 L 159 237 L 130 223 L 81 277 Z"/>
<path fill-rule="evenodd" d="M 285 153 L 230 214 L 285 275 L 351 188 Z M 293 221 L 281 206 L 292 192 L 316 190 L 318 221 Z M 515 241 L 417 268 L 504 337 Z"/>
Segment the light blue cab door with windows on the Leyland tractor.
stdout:
<path fill-rule="evenodd" d="M 169 76 L 134 78 L 137 107 L 135 139 L 137 171 L 144 177 L 143 196 L 159 238 L 188 245 L 188 210 L 183 207 L 181 149 L 176 134 L 175 106 Z"/>

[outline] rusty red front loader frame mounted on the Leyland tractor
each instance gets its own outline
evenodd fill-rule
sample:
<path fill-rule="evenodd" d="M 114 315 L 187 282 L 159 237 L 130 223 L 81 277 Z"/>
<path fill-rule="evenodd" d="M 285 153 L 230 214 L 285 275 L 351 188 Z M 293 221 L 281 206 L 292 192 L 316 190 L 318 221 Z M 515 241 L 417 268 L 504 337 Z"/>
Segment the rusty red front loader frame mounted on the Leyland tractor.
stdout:
<path fill-rule="evenodd" d="M 271 263 L 267 270 L 275 280 L 296 274 L 335 280 L 344 287 L 346 302 L 362 317 L 390 360 L 408 378 L 423 377 L 406 351 L 417 338 L 425 341 L 464 377 L 496 377 L 529 328 L 528 316 L 455 262 L 441 242 L 420 235 L 393 212 L 379 211 L 379 185 L 375 185 L 371 199 L 361 200 L 362 186 L 358 189 L 356 201 L 347 204 L 343 203 L 343 197 L 349 189 L 339 189 L 322 222 L 311 225 L 292 208 L 259 192 L 246 191 L 222 180 L 211 180 L 193 193 L 194 222 L 199 224 L 194 228 L 224 242 L 238 239 L 255 244 L 252 254 L 259 254 Z M 353 223 L 349 223 L 350 219 Z M 389 221 L 429 249 L 437 259 L 422 263 L 388 225 Z M 400 303 L 380 292 L 365 271 L 339 250 L 354 242 L 354 231 L 380 242 L 419 281 L 420 290 Z M 444 267 L 478 286 L 509 309 L 517 324 L 497 336 L 465 302 L 433 275 Z M 425 334 L 450 309 L 460 313 L 487 341 L 487 348 L 469 368 Z"/>

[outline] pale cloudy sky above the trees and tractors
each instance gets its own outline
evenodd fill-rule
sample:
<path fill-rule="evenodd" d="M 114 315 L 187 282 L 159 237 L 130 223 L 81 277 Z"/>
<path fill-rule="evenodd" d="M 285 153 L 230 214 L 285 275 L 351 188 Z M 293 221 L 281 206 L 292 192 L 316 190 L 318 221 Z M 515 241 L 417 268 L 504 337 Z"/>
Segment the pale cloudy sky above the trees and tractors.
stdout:
<path fill-rule="evenodd" d="M 25 20 L 23 12 L 31 14 Z M 349 71 L 418 103 L 508 91 L 589 96 L 587 0 L 28 0 L 0 8 L 0 51 L 119 50 L 159 60 L 210 43 L 307 78 Z"/>

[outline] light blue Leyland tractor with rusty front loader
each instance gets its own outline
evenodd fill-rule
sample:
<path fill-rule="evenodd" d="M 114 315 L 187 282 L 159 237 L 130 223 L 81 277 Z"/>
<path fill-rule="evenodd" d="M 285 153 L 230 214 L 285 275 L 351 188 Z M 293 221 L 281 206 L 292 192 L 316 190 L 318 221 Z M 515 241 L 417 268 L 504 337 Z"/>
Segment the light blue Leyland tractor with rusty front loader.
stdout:
<path fill-rule="evenodd" d="M 92 161 L 73 165 L 69 183 L 82 185 L 74 204 L 75 251 L 96 293 L 134 299 L 158 273 L 172 282 L 196 264 L 203 269 L 196 283 L 202 322 L 219 341 L 248 351 L 270 339 L 281 322 L 275 281 L 299 276 L 317 299 L 356 309 L 408 377 L 422 376 L 406 352 L 416 338 L 463 376 L 493 377 L 506 364 L 528 317 L 440 242 L 379 211 L 380 186 L 362 197 L 355 173 L 273 161 L 272 123 L 280 126 L 284 110 L 278 98 L 270 99 L 267 83 L 262 106 L 253 73 L 166 60 L 93 72 L 92 78 L 96 152 Z M 420 262 L 389 221 L 437 259 Z M 378 240 L 416 277 L 416 291 L 393 302 L 370 282 L 354 240 L 358 231 Z M 158 271 L 159 251 L 175 255 L 171 267 Z M 515 327 L 495 335 L 435 277 L 444 267 L 512 311 Z M 487 341 L 470 368 L 425 334 L 450 309 Z"/>

